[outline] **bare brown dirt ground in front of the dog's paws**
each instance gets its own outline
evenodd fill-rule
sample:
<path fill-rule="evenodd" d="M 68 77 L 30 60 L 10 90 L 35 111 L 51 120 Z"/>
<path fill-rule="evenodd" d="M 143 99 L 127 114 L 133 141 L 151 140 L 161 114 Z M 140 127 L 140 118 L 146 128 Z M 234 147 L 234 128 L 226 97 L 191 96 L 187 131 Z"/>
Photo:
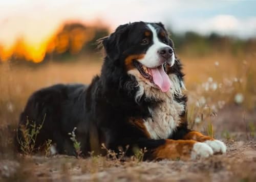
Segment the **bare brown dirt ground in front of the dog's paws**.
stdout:
<path fill-rule="evenodd" d="M 227 153 L 191 161 L 26 157 L 0 162 L 3 181 L 255 181 L 256 142 L 225 141 Z"/>

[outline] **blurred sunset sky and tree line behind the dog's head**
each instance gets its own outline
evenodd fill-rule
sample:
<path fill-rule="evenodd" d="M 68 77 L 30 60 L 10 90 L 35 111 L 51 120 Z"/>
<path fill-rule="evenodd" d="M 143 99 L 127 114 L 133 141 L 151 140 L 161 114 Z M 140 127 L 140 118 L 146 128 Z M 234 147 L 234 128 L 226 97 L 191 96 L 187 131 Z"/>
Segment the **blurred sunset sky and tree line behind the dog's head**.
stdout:
<path fill-rule="evenodd" d="M 255 50 L 255 1 L 1 1 L 0 59 L 34 63 L 95 54 L 96 39 L 133 21 L 161 21 L 186 56 Z"/>

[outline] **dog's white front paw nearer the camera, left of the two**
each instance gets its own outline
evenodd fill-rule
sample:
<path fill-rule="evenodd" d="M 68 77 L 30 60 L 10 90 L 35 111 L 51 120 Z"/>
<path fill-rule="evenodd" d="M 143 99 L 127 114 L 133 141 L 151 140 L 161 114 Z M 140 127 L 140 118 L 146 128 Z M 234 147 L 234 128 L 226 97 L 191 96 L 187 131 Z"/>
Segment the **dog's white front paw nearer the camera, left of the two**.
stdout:
<path fill-rule="evenodd" d="M 191 159 L 197 159 L 198 157 L 201 158 L 208 158 L 214 154 L 214 151 L 209 147 L 209 145 L 201 142 L 197 142 L 194 144 L 192 152 L 191 152 Z"/>

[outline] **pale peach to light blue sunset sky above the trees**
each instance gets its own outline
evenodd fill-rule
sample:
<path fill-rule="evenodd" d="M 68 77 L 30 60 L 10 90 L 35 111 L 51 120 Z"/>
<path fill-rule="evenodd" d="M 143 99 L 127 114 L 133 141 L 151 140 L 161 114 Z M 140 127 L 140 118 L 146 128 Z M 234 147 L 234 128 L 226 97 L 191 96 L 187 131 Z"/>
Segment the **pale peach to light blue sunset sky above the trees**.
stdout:
<path fill-rule="evenodd" d="M 38 45 L 63 21 L 101 21 L 111 29 L 129 21 L 162 21 L 174 31 L 256 36 L 256 1 L 0 1 L 0 43 L 11 46 L 23 36 Z"/>

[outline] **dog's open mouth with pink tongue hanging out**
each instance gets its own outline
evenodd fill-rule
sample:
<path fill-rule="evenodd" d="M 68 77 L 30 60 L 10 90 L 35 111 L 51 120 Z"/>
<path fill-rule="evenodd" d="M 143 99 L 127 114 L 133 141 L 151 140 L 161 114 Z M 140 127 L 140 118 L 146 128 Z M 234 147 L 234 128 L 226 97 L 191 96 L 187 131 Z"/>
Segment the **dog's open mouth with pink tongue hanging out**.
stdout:
<path fill-rule="evenodd" d="M 134 60 L 133 63 L 140 74 L 154 86 L 160 88 L 162 92 L 167 92 L 170 89 L 170 80 L 164 64 L 155 68 L 148 68 L 137 60 Z"/>

